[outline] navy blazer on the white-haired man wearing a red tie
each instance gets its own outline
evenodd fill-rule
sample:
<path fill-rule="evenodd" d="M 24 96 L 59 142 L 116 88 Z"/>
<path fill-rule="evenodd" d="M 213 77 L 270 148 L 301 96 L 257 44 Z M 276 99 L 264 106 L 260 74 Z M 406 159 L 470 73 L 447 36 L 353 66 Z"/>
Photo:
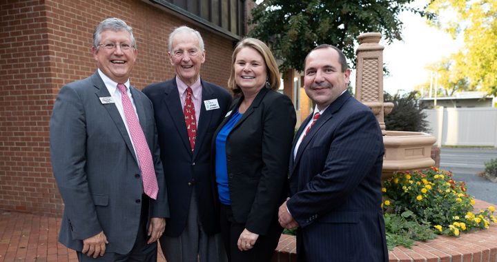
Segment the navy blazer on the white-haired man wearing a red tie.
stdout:
<path fill-rule="evenodd" d="M 193 153 L 179 100 L 176 78 L 153 83 L 143 92 L 152 101 L 159 134 L 160 157 L 168 188 L 170 218 L 166 219 L 166 236 L 179 236 L 195 188 L 199 220 L 209 235 L 219 232 L 215 181 L 211 169 L 211 139 L 231 104 L 231 94 L 213 83 L 203 81 L 202 104 Z M 217 99 L 220 108 L 206 110 L 204 101 Z M 195 186 L 193 186 L 195 185 Z"/>

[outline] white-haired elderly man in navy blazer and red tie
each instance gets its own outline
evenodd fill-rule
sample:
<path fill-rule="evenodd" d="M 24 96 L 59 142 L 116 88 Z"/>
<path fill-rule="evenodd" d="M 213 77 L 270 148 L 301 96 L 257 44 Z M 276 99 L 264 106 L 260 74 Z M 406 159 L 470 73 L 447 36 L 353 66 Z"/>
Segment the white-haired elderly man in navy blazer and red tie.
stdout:
<path fill-rule="evenodd" d="M 176 28 L 168 54 L 176 76 L 143 90 L 155 110 L 171 214 L 160 245 L 168 262 L 224 261 L 211 139 L 231 95 L 199 77 L 206 52 L 196 30 Z"/>

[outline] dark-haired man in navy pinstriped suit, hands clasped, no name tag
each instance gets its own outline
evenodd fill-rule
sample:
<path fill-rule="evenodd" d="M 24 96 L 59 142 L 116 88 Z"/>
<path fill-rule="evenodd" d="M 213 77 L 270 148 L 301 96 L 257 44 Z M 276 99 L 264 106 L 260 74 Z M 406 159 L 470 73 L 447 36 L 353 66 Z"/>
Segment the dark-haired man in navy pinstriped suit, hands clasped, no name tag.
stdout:
<path fill-rule="evenodd" d="M 291 197 L 278 212 L 283 227 L 299 226 L 298 261 L 388 261 L 382 134 L 373 112 L 347 92 L 349 76 L 334 46 L 306 57 L 304 88 L 316 107 L 293 142 Z"/>

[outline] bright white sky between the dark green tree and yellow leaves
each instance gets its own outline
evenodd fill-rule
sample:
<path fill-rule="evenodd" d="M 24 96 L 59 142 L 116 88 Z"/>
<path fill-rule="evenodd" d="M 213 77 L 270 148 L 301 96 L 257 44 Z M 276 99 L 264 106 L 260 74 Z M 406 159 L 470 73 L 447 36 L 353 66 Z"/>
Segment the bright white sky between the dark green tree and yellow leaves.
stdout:
<path fill-rule="evenodd" d="M 427 3 L 427 0 L 416 0 L 412 5 L 422 8 Z M 418 14 L 402 12 L 399 19 L 404 23 L 402 41 L 393 41 L 389 46 L 380 42 L 385 47 L 383 62 L 391 73 L 383 79 L 383 90 L 390 94 L 404 94 L 425 83 L 430 75 L 425 66 L 462 47 L 462 39 L 454 40 L 446 32 L 428 26 Z"/>

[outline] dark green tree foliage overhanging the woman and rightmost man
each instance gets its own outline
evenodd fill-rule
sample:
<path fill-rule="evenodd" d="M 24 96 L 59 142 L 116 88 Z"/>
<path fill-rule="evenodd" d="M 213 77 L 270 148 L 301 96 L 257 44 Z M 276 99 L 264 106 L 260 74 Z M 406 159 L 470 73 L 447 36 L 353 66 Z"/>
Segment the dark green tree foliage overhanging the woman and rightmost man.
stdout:
<path fill-rule="evenodd" d="M 391 43 L 401 39 L 398 14 L 413 0 L 264 0 L 252 10 L 249 35 L 269 44 L 282 72 L 302 71 L 306 54 L 322 43 L 344 51 L 355 63 L 354 41 L 363 32 L 381 32 Z"/>

